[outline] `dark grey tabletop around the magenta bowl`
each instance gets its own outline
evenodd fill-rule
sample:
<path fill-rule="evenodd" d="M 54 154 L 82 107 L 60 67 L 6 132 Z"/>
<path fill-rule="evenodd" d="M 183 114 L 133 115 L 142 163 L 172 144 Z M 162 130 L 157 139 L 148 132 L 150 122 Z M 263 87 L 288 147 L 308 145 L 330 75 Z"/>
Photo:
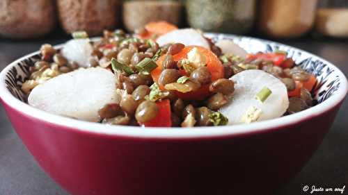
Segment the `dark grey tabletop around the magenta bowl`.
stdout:
<path fill-rule="evenodd" d="M 16 41 L 0 39 L 0 71 L 13 60 L 38 50 L 43 43 L 60 44 L 65 42 L 65 40 L 68 40 L 68 37 L 65 35 L 62 37 L 59 33 L 41 40 Z M 313 40 L 307 37 L 301 40 L 280 42 L 322 56 L 326 60 L 333 62 L 346 76 L 348 75 L 347 40 Z M 310 187 L 312 185 L 317 187 L 342 187 L 347 185 L 343 194 L 348 194 L 347 115 L 348 100 L 346 99 L 319 150 L 295 178 L 278 189 L 276 195 L 304 194 L 302 191 L 304 185 L 309 185 Z M 0 105 L 0 194 L 68 194 L 38 167 L 38 164 L 33 160 L 31 154 L 15 134 L 2 105 Z M 310 192 L 305 194 L 310 194 Z M 315 194 L 320 193 L 317 192 Z"/>

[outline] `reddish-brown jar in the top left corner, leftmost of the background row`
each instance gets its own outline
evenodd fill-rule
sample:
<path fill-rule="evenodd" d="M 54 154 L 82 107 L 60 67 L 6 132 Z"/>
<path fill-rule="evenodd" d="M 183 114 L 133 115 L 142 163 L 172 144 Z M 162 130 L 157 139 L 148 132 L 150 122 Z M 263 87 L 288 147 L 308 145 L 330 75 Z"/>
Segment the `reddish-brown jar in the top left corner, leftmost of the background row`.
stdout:
<path fill-rule="evenodd" d="M 0 35 L 3 37 L 40 37 L 52 31 L 55 26 L 54 1 L 0 1 Z"/>

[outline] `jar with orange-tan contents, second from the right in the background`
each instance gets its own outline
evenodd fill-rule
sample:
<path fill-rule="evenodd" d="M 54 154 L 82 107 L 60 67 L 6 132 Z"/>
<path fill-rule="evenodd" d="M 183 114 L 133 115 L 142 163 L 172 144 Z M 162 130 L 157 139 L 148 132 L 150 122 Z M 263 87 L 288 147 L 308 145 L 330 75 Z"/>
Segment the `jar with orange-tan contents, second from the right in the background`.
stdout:
<path fill-rule="evenodd" d="M 262 33 L 271 37 L 299 37 L 312 28 L 317 0 L 261 0 Z"/>

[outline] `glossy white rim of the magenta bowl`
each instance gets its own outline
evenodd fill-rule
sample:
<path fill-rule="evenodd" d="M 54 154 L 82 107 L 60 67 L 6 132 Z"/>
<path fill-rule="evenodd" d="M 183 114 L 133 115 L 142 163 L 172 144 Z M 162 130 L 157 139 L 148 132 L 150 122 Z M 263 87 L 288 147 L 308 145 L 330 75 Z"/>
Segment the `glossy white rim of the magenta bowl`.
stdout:
<path fill-rule="evenodd" d="M 263 40 L 255 37 L 247 36 L 238 36 L 230 35 L 223 33 L 206 33 L 209 35 L 226 35 L 233 38 L 249 38 L 251 40 L 258 40 L 260 42 L 268 44 L 277 44 L 279 46 L 287 46 L 290 49 L 301 51 L 301 53 L 306 53 L 306 55 L 314 56 L 318 60 L 322 60 L 329 67 L 333 68 L 336 71 L 337 75 L 340 78 L 340 87 L 333 96 L 330 96 L 329 99 L 326 99 L 322 103 L 319 103 L 312 108 L 303 110 L 301 112 L 295 113 L 293 115 L 287 115 L 284 117 L 279 117 L 276 119 L 270 119 L 266 121 L 258 121 L 252 124 L 239 124 L 234 126 L 211 126 L 211 127 L 200 127 L 200 128 L 163 128 L 163 127 L 137 127 L 137 126 L 109 126 L 106 124 L 98 124 L 88 121 L 79 121 L 77 119 L 71 119 L 68 117 L 63 117 L 59 115 L 50 114 L 48 112 L 38 110 L 37 108 L 31 107 L 29 104 L 24 103 L 17 99 L 10 91 L 5 87 L 5 78 L 8 71 L 17 65 L 18 62 L 35 56 L 40 51 L 35 51 L 29 53 L 22 58 L 11 62 L 7 67 L 3 69 L 0 73 L 0 98 L 3 100 L 3 103 L 6 103 L 11 108 L 21 112 L 24 115 L 33 117 L 40 121 L 45 121 L 49 124 L 54 124 L 56 126 L 64 126 L 65 129 L 77 130 L 81 133 L 93 133 L 95 135 L 107 135 L 107 136 L 122 136 L 122 137 L 142 137 L 142 138 L 161 138 L 161 139 L 173 139 L 173 138 L 202 138 L 202 137 L 224 137 L 224 136 L 235 136 L 235 135 L 246 135 L 253 133 L 267 132 L 269 130 L 279 130 L 282 127 L 298 124 L 301 121 L 306 121 L 318 115 L 322 115 L 324 112 L 335 108 L 339 105 L 344 99 L 348 91 L 348 83 L 345 75 L 335 67 L 331 62 L 316 56 L 313 53 L 303 51 L 293 46 L 286 44 L 281 44 L 279 42 L 273 42 L 269 40 Z M 98 37 L 93 38 L 92 40 L 97 40 Z M 64 44 L 58 44 L 54 46 L 55 48 L 60 48 Z"/>

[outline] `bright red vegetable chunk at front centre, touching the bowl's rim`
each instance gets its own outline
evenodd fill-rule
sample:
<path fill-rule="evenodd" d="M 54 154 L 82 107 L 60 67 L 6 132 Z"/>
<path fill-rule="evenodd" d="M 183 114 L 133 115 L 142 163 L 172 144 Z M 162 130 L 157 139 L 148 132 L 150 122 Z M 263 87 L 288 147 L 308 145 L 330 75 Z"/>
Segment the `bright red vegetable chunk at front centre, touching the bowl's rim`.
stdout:
<path fill-rule="evenodd" d="M 171 102 L 168 99 L 164 99 L 162 101 L 157 101 L 156 104 L 159 110 L 155 119 L 140 125 L 152 127 L 171 127 Z"/>

